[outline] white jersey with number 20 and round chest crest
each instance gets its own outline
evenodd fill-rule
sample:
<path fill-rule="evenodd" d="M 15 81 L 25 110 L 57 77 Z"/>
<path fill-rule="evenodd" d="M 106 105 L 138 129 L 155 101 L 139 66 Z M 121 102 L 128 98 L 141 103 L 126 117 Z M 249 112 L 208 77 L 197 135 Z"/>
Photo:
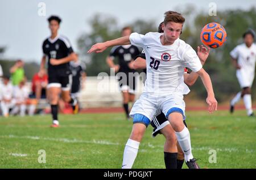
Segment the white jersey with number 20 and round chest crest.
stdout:
<path fill-rule="evenodd" d="M 184 67 L 197 72 L 202 68 L 195 50 L 179 38 L 172 45 L 160 42 L 162 33 L 132 33 L 130 42 L 141 46 L 146 54 L 147 80 L 143 92 L 158 96 L 184 93 Z M 188 89 L 189 92 L 189 89 Z"/>

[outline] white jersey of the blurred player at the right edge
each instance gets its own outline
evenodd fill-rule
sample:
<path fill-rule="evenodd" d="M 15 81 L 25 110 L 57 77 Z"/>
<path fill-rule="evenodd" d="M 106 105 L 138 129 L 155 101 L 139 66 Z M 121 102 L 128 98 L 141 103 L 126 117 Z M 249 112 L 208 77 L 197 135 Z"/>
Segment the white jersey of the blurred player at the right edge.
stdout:
<path fill-rule="evenodd" d="M 253 43 L 250 48 L 248 48 L 244 43 L 236 46 L 230 52 L 232 58 L 237 59 L 238 65 L 241 69 L 238 71 L 243 71 L 246 74 L 255 72 L 255 62 L 256 62 L 256 45 Z"/>

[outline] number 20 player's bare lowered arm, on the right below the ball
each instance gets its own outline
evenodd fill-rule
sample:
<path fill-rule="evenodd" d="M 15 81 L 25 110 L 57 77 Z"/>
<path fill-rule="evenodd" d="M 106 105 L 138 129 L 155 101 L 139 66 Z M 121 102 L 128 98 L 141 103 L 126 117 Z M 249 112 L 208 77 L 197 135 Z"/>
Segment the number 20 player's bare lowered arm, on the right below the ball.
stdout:
<path fill-rule="evenodd" d="M 209 113 L 212 113 L 214 110 L 217 110 L 217 100 L 214 97 L 214 92 L 213 92 L 213 88 L 212 88 L 212 82 L 210 80 L 210 76 L 208 75 L 208 73 L 204 70 L 204 68 L 201 68 L 201 70 L 196 72 L 200 78 L 202 79 L 203 83 L 204 83 L 204 87 L 205 89 L 207 89 L 207 104 L 209 105 Z"/>

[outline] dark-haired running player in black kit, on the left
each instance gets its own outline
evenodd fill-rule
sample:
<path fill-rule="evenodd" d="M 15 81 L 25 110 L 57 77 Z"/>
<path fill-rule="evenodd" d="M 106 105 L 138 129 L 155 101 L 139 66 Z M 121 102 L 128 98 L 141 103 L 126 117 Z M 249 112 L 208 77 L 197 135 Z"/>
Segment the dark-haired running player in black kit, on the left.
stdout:
<path fill-rule="evenodd" d="M 57 118 L 58 101 L 61 97 L 65 102 L 69 102 L 73 106 L 73 113 L 77 113 L 79 107 L 76 100 L 71 98 L 72 74 L 69 68 L 69 62 L 77 59 L 73 52 L 71 44 L 67 37 L 58 34 L 61 19 L 57 16 L 48 18 L 49 29 L 51 36 L 43 42 L 43 58 L 40 68 L 43 69 L 48 60 L 48 85 L 47 98 L 51 104 L 52 125 L 58 127 L 59 121 Z"/>

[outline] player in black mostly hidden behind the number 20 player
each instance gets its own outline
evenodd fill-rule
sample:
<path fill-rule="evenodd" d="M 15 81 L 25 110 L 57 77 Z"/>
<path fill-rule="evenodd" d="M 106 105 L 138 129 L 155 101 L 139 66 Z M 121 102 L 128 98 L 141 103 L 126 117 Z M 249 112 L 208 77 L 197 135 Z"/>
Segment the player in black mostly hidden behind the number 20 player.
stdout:
<path fill-rule="evenodd" d="M 162 30 L 162 23 L 160 23 L 158 32 L 163 33 Z M 204 61 L 200 59 L 202 65 L 204 65 Z M 133 63 L 133 68 L 138 69 L 145 69 L 146 68 L 146 56 L 144 54 L 144 50 L 141 54 L 139 54 Z M 198 75 L 195 72 L 191 72 L 191 74 L 187 74 L 187 68 L 184 70 L 184 83 L 191 86 L 193 85 Z M 185 120 L 183 121 L 184 125 L 187 127 L 187 124 Z M 173 130 L 172 126 L 170 125 L 170 122 L 166 118 L 166 116 L 161 113 L 158 116 L 156 116 L 151 121 L 151 126 L 154 127 L 152 136 L 155 137 L 158 134 L 163 134 L 166 138 L 166 142 L 164 143 L 164 162 L 166 164 L 167 169 L 181 169 L 184 163 L 184 153 L 182 149 L 179 146 L 179 143 L 175 144 L 177 142 L 175 131 Z M 188 168 L 199 168 L 199 166 L 195 163 L 193 163 L 194 166 L 188 165 Z M 196 167 L 198 166 L 198 167 Z"/>

